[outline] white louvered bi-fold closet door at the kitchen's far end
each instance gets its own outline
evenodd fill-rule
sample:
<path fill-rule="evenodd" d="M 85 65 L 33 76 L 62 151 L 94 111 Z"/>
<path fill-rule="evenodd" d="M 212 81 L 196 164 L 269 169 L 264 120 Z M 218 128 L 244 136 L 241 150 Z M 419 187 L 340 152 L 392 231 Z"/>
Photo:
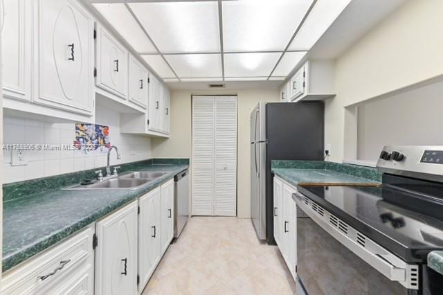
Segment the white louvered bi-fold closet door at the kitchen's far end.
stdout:
<path fill-rule="evenodd" d="M 237 96 L 192 96 L 192 215 L 237 215 Z"/>

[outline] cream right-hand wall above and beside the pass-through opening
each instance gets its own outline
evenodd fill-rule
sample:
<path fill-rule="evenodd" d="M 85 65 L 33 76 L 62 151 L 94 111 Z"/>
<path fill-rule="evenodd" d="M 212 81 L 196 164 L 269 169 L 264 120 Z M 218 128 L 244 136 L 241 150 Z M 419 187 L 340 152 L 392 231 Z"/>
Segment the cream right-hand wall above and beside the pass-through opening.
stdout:
<path fill-rule="evenodd" d="M 443 75 L 443 1 L 406 2 L 336 60 L 325 105 L 329 161 L 343 159 L 345 107 Z"/>

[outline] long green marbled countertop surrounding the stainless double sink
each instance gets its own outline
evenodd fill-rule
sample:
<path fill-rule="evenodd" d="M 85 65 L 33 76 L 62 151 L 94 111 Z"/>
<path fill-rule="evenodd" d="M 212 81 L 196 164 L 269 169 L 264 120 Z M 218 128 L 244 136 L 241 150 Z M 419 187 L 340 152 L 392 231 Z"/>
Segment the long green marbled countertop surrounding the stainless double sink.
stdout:
<path fill-rule="evenodd" d="M 187 169 L 188 163 L 159 164 L 144 161 L 137 165 L 127 164 L 122 168 L 126 172 L 150 170 L 168 173 L 137 190 L 62 190 L 63 186 L 59 186 L 50 190 L 35 190 L 35 193 L 23 193 L 27 189 L 24 184 L 3 186 L 3 195 L 6 194 L 3 202 L 3 271 L 172 179 Z M 85 172 L 81 173 L 84 177 Z M 88 175 L 91 175 L 90 171 Z M 74 174 L 71 177 L 75 179 Z M 69 185 L 66 179 L 53 179 L 53 182 Z M 30 181 L 28 188 L 42 187 L 42 181 L 47 184 L 46 188 L 57 186 L 51 183 L 51 178 L 47 178 Z"/>

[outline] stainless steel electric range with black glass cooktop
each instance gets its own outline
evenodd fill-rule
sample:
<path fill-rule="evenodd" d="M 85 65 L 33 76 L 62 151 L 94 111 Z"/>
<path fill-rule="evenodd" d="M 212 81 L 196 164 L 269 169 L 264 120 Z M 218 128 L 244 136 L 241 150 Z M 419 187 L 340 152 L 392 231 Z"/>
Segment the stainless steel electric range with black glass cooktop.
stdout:
<path fill-rule="evenodd" d="M 443 146 L 384 147 L 379 187 L 299 186 L 297 295 L 443 294 Z"/>

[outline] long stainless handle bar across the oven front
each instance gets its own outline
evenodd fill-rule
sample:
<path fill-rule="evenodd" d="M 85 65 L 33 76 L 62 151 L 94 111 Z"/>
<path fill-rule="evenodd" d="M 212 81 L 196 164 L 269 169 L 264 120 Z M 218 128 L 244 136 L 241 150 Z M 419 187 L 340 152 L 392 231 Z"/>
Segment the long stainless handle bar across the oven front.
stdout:
<path fill-rule="evenodd" d="M 377 269 L 383 276 L 386 276 L 389 280 L 397 281 L 402 285 L 408 285 L 408 278 L 406 278 L 407 270 L 406 262 L 395 257 L 392 253 L 388 252 L 379 244 L 373 242 L 369 238 L 365 237 L 363 234 L 356 231 L 352 226 L 346 224 L 342 220 L 338 220 L 343 226 L 347 226 L 347 234 L 343 233 L 338 226 L 334 226 L 330 222 L 330 216 L 332 215 L 328 211 L 324 210 L 323 215 L 317 213 L 312 204 L 314 202 L 311 199 L 305 197 L 301 193 L 294 193 L 293 200 L 296 202 L 297 206 L 302 208 L 309 217 L 311 217 L 316 224 L 321 226 L 327 233 L 332 235 L 338 242 L 341 242 L 347 249 L 350 249 L 356 256 L 359 256 L 369 265 Z M 315 203 L 314 203 L 315 204 Z M 317 205 L 317 208 L 318 204 Z M 335 216 L 334 216 L 335 217 Z M 337 219 L 337 218 L 336 218 Z M 358 235 L 357 235 L 358 233 Z M 364 237 L 364 246 L 357 242 L 358 237 Z M 395 263 L 395 265 L 393 264 Z"/>

